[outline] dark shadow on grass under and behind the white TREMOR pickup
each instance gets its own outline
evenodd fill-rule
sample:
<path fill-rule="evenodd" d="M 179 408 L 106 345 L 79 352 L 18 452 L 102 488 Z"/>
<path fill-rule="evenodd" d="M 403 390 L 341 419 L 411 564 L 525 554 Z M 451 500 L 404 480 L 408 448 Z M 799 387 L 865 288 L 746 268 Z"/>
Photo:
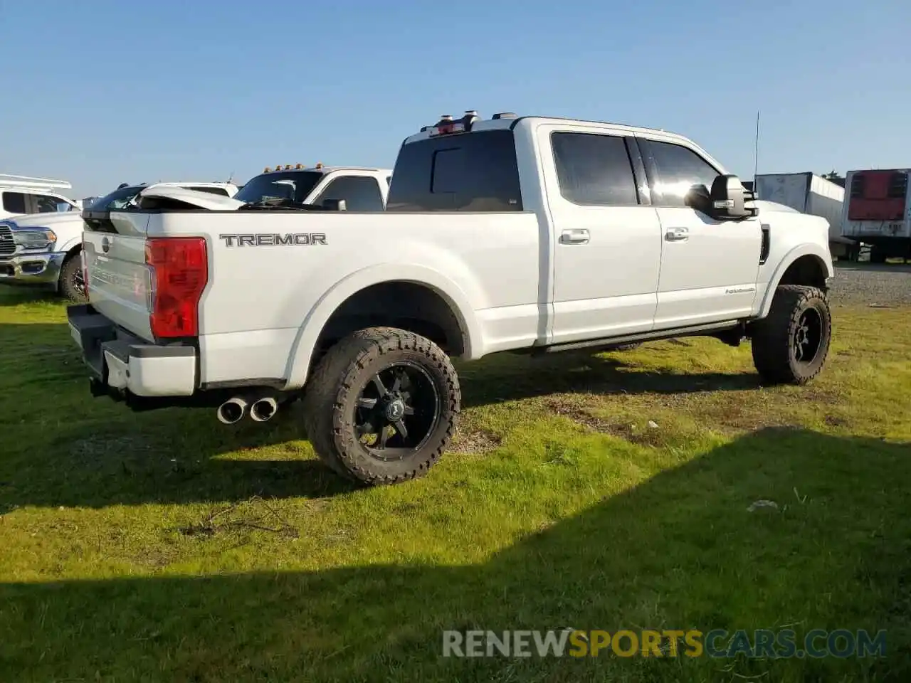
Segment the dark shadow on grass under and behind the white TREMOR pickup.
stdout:
<path fill-rule="evenodd" d="M 681 342 L 684 343 L 684 342 Z M 225 427 L 210 409 L 131 413 L 92 399 L 65 324 L 0 325 L 0 513 L 88 506 L 325 497 L 355 484 L 312 458 L 300 404 L 265 425 Z M 499 355 L 467 365 L 466 407 L 555 392 L 691 392 L 758 386 L 752 374 L 634 372 L 616 356 Z M 271 446 L 244 459 L 243 452 Z M 222 454 L 233 454 L 220 459 Z M 268 460 L 262 459 L 263 456 Z"/>

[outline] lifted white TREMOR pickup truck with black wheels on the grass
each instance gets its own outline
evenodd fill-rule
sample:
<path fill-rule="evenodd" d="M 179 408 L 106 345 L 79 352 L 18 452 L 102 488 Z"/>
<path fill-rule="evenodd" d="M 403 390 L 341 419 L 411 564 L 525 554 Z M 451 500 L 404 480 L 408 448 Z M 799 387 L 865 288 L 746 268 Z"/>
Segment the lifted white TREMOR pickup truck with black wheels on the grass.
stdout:
<path fill-rule="evenodd" d="M 87 230 L 68 319 L 93 394 L 223 423 L 302 396 L 322 460 L 385 484 L 445 451 L 451 357 L 750 338 L 766 382 L 801 384 L 829 349 L 826 221 L 668 132 L 443 117 L 404 140 L 385 212 L 351 208 L 153 192 Z"/>

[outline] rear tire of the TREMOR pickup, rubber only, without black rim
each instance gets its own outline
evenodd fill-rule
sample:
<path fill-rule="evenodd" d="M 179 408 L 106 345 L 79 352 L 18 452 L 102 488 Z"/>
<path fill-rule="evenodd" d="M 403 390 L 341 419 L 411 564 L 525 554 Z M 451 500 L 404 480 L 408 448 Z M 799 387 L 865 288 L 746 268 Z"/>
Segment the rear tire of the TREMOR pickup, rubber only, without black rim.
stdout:
<path fill-rule="evenodd" d="M 401 460 L 374 457 L 354 425 L 359 392 L 375 373 L 396 362 L 417 365 L 435 387 L 438 418 L 425 443 Z M 461 407 L 458 375 L 449 357 L 429 339 L 391 327 L 356 331 L 322 357 L 307 382 L 303 423 L 313 450 L 336 473 L 363 484 L 396 484 L 427 474 L 455 432 Z"/>

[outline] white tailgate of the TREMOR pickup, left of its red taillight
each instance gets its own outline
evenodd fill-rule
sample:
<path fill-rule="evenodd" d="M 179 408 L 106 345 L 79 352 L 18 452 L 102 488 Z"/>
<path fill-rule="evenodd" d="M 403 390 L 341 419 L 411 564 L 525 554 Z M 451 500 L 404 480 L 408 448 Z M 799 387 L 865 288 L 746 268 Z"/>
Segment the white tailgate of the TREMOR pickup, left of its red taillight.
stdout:
<path fill-rule="evenodd" d="M 148 214 L 84 211 L 88 301 L 108 320 L 149 342 Z"/>

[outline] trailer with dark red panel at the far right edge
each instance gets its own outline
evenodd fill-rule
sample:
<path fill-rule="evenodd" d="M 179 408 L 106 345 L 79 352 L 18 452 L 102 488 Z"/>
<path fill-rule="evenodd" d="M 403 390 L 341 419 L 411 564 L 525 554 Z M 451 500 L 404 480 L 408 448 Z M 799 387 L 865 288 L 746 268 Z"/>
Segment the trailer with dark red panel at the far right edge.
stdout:
<path fill-rule="evenodd" d="M 844 236 L 871 246 L 870 261 L 911 259 L 908 168 L 853 170 L 845 175 Z"/>

